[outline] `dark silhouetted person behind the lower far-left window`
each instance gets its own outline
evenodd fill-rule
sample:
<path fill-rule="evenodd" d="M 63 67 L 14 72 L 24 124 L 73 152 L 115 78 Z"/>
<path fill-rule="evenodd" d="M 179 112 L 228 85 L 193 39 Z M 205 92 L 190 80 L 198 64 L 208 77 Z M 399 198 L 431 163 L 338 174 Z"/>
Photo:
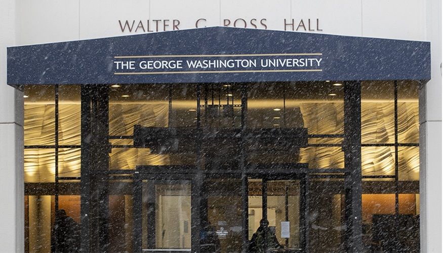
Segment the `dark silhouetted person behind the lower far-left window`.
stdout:
<path fill-rule="evenodd" d="M 51 252 L 78 252 L 80 250 L 80 228 L 64 209 L 55 213 L 51 230 Z"/>

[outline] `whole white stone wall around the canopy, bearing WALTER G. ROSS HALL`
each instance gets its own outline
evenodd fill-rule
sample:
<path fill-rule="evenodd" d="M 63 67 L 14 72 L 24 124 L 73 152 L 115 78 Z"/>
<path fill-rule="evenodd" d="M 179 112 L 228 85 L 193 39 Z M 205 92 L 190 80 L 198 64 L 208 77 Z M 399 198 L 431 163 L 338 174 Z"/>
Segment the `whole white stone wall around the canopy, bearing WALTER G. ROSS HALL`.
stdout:
<path fill-rule="evenodd" d="M 2 0 L 0 224 L 9 229 L 0 230 L 0 251 L 23 251 L 23 95 L 6 85 L 7 46 L 130 34 L 118 20 L 151 20 L 151 29 L 153 20 L 169 20 L 172 29 L 176 19 L 180 29 L 189 29 L 198 19 L 219 26 L 240 18 L 250 28 L 251 20 L 284 30 L 285 19 L 295 26 L 310 19 L 310 32 L 431 41 L 432 80 L 420 92 L 421 240 L 423 251 L 441 252 L 441 227 L 435 225 L 441 224 L 441 0 Z"/>

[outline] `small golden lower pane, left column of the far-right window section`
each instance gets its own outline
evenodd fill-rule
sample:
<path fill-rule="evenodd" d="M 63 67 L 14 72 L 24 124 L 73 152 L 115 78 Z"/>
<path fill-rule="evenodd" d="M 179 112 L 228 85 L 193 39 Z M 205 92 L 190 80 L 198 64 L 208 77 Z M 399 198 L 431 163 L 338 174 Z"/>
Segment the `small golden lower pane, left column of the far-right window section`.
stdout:
<path fill-rule="evenodd" d="M 395 175 L 395 148 L 361 147 L 361 175 Z"/>

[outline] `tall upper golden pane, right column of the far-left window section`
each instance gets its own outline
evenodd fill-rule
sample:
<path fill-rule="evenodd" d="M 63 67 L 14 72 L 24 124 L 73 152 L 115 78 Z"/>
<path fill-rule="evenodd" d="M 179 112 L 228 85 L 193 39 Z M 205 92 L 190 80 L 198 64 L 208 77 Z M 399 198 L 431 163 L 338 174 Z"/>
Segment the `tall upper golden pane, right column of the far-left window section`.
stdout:
<path fill-rule="evenodd" d="M 80 85 L 60 85 L 59 94 L 59 145 L 80 145 Z"/>

